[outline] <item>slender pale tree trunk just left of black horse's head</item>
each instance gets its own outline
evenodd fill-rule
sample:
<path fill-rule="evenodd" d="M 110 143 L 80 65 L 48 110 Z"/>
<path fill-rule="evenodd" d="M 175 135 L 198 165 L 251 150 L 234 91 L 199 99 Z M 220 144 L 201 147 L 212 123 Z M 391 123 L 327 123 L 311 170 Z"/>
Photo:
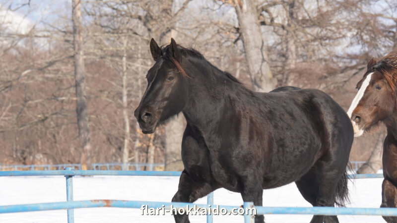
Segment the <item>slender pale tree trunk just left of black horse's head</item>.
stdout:
<path fill-rule="evenodd" d="M 124 39 L 123 52 L 123 117 L 124 117 L 124 146 L 123 146 L 123 164 L 124 170 L 128 170 L 128 156 L 130 143 L 130 119 L 128 117 L 128 101 L 127 101 L 127 37 Z"/>

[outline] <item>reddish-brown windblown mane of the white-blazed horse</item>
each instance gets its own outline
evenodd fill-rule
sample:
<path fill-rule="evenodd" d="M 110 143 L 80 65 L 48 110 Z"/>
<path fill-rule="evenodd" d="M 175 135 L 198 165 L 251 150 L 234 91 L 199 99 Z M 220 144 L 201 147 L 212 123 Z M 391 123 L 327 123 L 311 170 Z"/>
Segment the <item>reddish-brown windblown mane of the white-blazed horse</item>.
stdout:
<path fill-rule="evenodd" d="M 390 87 L 397 90 L 397 51 L 382 57 L 368 71 L 379 71 L 385 76 Z"/>

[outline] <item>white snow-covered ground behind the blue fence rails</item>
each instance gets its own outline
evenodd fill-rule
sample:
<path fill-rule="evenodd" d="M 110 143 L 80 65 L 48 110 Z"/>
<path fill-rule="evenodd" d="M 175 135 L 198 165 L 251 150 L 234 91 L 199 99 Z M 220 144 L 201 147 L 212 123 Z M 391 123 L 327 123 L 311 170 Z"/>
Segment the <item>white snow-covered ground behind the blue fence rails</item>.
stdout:
<path fill-rule="evenodd" d="M 115 199 L 170 202 L 179 177 L 91 176 L 73 177 L 74 200 Z M 356 179 L 350 183 L 349 207 L 378 208 L 381 204 L 381 178 Z M 64 176 L 0 177 L 0 205 L 66 201 Z M 206 198 L 196 203 L 205 204 Z M 240 206 L 240 194 L 218 189 L 214 204 Z M 264 190 L 264 206 L 311 207 L 295 184 Z M 139 209 L 75 209 L 75 223 L 173 223 L 171 215 L 142 216 Z M 309 215 L 266 215 L 266 223 L 308 223 Z M 384 223 L 380 216 L 339 216 L 341 223 Z M 192 223 L 205 222 L 205 216 L 190 216 Z M 66 210 L 0 214 L 0 223 L 66 223 Z M 242 216 L 214 216 L 214 223 L 241 223 Z"/>

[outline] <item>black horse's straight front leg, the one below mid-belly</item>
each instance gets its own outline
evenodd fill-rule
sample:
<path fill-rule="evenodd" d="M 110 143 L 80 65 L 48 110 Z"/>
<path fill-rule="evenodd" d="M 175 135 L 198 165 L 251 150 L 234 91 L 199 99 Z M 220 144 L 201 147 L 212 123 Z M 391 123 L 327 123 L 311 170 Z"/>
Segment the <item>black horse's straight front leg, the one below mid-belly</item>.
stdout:
<path fill-rule="evenodd" d="M 254 179 L 247 179 L 244 182 L 244 190 L 241 192 L 241 197 L 244 202 L 254 202 L 255 206 L 262 206 L 263 203 L 263 188 L 259 181 Z M 255 223 L 264 223 L 263 215 L 255 216 Z"/>

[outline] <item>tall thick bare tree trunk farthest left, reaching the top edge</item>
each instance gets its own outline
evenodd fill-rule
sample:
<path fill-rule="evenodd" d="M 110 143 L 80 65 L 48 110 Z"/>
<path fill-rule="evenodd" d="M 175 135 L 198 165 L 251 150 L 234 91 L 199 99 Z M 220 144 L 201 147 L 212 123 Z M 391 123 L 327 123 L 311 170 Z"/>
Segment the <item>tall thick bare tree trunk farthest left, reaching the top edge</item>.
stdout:
<path fill-rule="evenodd" d="M 74 77 L 76 83 L 76 114 L 78 136 L 82 148 L 81 168 L 91 165 L 90 130 L 88 127 L 87 100 L 85 92 L 85 70 L 83 54 L 83 35 L 81 31 L 80 0 L 72 0 L 73 40 L 74 40 Z"/>

